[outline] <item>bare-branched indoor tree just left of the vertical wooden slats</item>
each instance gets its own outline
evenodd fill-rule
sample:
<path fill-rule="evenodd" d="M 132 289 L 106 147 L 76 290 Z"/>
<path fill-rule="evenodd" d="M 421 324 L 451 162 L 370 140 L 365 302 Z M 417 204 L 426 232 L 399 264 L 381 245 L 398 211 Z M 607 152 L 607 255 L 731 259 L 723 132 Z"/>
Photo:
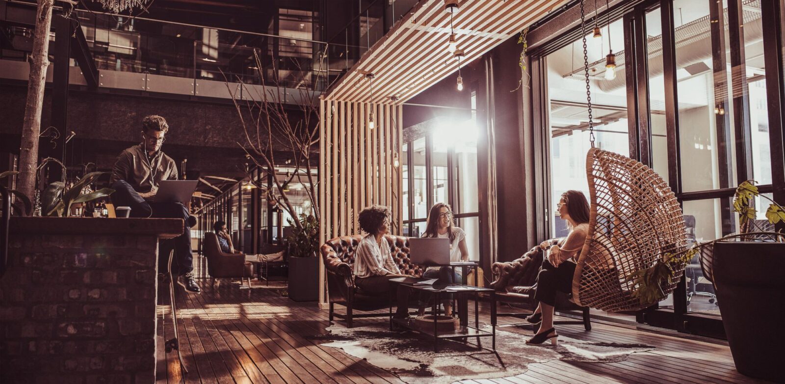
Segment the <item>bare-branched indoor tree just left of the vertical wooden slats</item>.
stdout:
<path fill-rule="evenodd" d="M 273 75 L 265 81 L 265 67 L 254 49 L 255 70 L 261 84 L 272 86 L 250 87 L 242 79 L 235 79 L 239 82 L 243 95 L 250 95 L 243 97 L 243 100 L 232 92 L 227 79 L 227 89 L 232 94 L 232 101 L 245 133 L 244 140 L 238 141 L 237 144 L 246 152 L 246 158 L 261 170 L 261 176 L 264 176 L 254 179 L 249 174 L 250 181 L 256 188 L 260 188 L 268 202 L 276 202 L 287 211 L 297 229 L 303 229 L 304 223 L 294 209 L 285 188 L 292 181 L 301 183 L 311 200 L 311 212 L 305 217 L 313 216 L 316 222 L 319 222 L 319 198 L 316 195 L 319 181 L 311 173 L 312 166 L 318 163 L 312 159 L 312 155 L 318 153 L 319 145 L 319 97 L 314 88 L 316 79 L 323 73 L 321 69 L 327 53 L 323 50 L 316 54 L 319 60 L 315 60 L 315 68 L 309 71 L 304 71 L 296 58 L 285 59 L 290 60 L 294 70 L 278 71 L 274 58 L 271 64 Z M 289 78 L 280 79 L 279 72 L 287 73 Z M 294 87 L 287 87 L 284 82 L 294 84 Z M 289 93 L 292 90 L 294 95 Z M 292 109 L 287 108 L 283 100 L 285 97 L 292 97 L 297 101 L 296 112 L 301 115 L 299 118 L 290 114 Z M 294 168 L 294 171 L 287 173 L 283 181 L 276 177 L 276 168 L 280 166 Z M 250 169 L 246 170 L 250 172 Z M 270 188 L 266 185 L 268 176 L 272 178 L 273 185 Z"/>

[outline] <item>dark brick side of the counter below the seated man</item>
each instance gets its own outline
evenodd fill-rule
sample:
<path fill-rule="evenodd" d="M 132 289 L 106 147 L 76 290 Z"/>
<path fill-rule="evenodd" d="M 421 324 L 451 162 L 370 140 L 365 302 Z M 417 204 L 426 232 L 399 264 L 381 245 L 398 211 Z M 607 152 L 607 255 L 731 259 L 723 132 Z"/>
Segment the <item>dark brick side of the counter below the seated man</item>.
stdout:
<path fill-rule="evenodd" d="M 0 382 L 155 382 L 157 240 L 12 235 Z"/>

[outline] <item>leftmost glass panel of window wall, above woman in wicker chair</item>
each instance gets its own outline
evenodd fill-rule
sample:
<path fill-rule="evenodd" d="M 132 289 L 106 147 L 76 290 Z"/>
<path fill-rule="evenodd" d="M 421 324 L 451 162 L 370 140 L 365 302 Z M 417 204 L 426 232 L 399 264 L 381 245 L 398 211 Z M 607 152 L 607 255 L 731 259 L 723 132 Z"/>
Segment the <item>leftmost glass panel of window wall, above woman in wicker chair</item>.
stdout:
<path fill-rule="evenodd" d="M 587 36 L 590 63 L 590 90 L 595 145 L 598 148 L 630 154 L 627 129 L 626 80 L 623 69 L 614 75 L 605 68 L 609 49 L 616 53 L 616 64 L 624 63 L 622 21 L 601 28 L 601 41 Z M 580 38 L 546 57 L 548 100 L 550 105 L 550 199 L 548 215 L 553 237 L 567 236 L 567 223 L 559 218 L 554 207 L 562 193 L 570 189 L 582 191 L 587 199 L 586 153 L 591 148 L 589 113 L 586 104 L 586 82 L 583 46 Z M 622 67 L 623 68 L 623 67 Z"/>

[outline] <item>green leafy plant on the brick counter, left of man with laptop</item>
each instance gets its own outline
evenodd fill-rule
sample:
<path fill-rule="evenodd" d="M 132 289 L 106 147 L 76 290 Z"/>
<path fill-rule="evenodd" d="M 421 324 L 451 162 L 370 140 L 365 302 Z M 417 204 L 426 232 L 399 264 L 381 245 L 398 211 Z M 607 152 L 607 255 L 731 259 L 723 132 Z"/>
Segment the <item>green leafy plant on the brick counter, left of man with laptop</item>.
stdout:
<path fill-rule="evenodd" d="M 111 195 L 115 192 L 111 188 L 101 188 L 97 191 L 83 193 L 86 186 L 96 181 L 103 174 L 108 174 L 108 172 L 91 172 L 68 188 L 62 181 L 49 184 L 41 196 L 42 212 L 46 216 L 70 216 L 72 204 L 87 203 L 94 199 Z"/>

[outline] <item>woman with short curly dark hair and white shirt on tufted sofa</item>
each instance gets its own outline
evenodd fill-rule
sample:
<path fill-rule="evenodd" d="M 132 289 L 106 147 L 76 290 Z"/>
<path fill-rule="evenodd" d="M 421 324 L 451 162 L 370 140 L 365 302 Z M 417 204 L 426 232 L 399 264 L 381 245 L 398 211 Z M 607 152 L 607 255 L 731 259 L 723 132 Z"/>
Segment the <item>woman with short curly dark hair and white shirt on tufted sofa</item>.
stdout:
<path fill-rule="evenodd" d="M 385 234 L 389 232 L 391 212 L 389 207 L 374 205 L 360 212 L 360 229 L 367 232 L 357 244 L 354 254 L 354 283 L 368 294 L 389 294 L 390 279 L 406 277 L 392 260 Z M 409 287 L 397 286 L 398 309 L 394 317 L 409 316 Z"/>

